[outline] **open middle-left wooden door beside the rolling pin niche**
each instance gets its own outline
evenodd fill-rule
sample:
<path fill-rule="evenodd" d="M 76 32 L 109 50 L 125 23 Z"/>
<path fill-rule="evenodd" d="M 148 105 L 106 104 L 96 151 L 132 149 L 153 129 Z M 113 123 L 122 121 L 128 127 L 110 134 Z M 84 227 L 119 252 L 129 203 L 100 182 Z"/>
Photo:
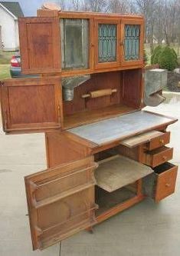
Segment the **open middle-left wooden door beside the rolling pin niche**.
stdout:
<path fill-rule="evenodd" d="M 61 79 L 58 77 L 5 80 L 2 123 L 5 132 L 47 131 L 61 127 Z"/>

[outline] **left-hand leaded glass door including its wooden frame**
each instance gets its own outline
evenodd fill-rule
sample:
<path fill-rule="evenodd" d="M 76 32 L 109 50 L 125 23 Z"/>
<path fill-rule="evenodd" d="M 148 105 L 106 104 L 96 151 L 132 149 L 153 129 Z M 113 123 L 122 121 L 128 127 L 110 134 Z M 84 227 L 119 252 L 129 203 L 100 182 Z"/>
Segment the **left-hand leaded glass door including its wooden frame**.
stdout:
<path fill-rule="evenodd" d="M 95 68 L 119 66 L 119 19 L 95 18 Z"/>

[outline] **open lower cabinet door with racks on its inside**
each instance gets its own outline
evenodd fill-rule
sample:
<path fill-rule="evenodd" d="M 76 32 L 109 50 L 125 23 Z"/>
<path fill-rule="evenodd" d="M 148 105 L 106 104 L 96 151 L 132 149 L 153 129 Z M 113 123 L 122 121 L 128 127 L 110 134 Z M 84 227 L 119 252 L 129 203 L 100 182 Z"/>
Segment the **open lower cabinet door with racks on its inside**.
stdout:
<path fill-rule="evenodd" d="M 33 249 L 44 249 L 96 223 L 93 157 L 25 177 Z"/>

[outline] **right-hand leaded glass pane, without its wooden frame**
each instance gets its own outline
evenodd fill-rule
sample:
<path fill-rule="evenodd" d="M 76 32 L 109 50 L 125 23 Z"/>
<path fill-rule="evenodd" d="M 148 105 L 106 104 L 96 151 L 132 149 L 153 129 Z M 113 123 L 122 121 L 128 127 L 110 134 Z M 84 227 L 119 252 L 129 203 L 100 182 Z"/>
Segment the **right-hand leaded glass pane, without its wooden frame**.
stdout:
<path fill-rule="evenodd" d="M 139 59 L 140 25 L 125 25 L 124 58 L 126 61 Z"/>

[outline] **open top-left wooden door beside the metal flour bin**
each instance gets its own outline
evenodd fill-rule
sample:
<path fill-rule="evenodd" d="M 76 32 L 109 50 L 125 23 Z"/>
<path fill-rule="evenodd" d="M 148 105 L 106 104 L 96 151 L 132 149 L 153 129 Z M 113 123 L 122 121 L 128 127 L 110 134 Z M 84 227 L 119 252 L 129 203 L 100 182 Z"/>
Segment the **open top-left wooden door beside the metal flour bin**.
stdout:
<path fill-rule="evenodd" d="M 18 25 L 22 73 L 60 72 L 59 18 L 19 18 Z"/>

